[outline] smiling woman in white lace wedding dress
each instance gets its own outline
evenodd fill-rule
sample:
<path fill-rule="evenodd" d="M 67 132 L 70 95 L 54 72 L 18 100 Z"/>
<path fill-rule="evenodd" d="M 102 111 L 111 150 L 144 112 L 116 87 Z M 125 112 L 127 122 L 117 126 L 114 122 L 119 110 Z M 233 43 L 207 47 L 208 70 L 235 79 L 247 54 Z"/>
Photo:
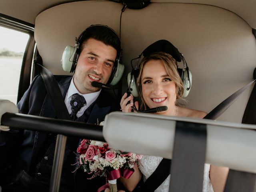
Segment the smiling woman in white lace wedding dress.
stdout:
<path fill-rule="evenodd" d="M 176 100 L 182 97 L 184 86 L 177 70 L 177 62 L 174 59 L 176 56 L 172 57 L 170 53 L 173 53 L 173 51 L 168 50 L 168 48 L 176 48 L 169 43 L 170 42 L 167 42 L 167 46 L 158 45 L 158 48 L 153 48 L 154 51 L 151 51 L 151 54 L 148 56 L 145 56 L 144 54 L 145 57 L 140 63 L 139 74 L 136 82 L 140 107 L 138 102 L 133 103 L 134 97 L 132 94 L 127 97 L 127 93 L 125 93 L 120 102 L 123 112 L 131 112 L 134 106 L 140 110 L 146 110 L 158 106 L 168 106 L 166 111 L 158 112 L 157 114 L 192 118 L 203 118 L 206 115 L 206 113 L 202 111 L 178 106 Z M 161 160 L 162 157 L 143 156 L 143 158 L 138 162 L 138 167 L 142 173 L 144 182 L 154 172 L 154 170 L 156 170 Z M 135 172 L 130 179 L 121 179 L 124 186 L 126 186 L 129 191 L 134 190 L 140 180 L 141 173 L 139 170 L 135 169 Z M 226 183 L 227 174 L 228 168 L 205 164 L 202 191 L 222 192 Z M 155 190 L 155 192 L 168 192 L 169 183 L 170 175 Z"/>

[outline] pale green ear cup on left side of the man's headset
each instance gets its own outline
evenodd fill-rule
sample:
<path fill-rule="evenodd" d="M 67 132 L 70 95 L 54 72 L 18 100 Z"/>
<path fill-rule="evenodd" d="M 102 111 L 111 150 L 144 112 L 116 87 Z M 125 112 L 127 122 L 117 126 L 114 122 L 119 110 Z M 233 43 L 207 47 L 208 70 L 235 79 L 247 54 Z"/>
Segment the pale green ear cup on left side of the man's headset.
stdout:
<path fill-rule="evenodd" d="M 71 72 L 75 52 L 76 47 L 70 45 L 66 46 L 61 59 L 61 65 L 64 71 Z"/>

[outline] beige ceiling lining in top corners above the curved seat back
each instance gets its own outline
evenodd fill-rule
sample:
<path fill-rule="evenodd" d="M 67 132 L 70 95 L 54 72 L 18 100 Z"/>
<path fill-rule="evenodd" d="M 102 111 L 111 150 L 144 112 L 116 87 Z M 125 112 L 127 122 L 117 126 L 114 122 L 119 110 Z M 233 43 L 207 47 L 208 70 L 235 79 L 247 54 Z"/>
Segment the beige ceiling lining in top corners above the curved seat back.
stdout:
<path fill-rule="evenodd" d="M 74 0 L 1 0 L 0 13 L 34 24 L 36 16 L 42 11 L 68 2 L 74 2 Z M 151 2 L 194 3 L 221 7 L 242 17 L 256 29 L 255 0 L 151 0 Z"/>

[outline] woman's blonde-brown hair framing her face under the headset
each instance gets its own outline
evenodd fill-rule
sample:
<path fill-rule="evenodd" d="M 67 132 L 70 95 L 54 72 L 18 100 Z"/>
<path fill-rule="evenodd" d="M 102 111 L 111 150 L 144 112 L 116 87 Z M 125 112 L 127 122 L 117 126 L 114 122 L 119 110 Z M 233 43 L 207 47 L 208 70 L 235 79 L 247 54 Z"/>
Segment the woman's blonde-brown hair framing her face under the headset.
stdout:
<path fill-rule="evenodd" d="M 140 70 L 137 78 L 137 88 L 138 88 L 139 99 L 140 99 L 140 110 L 148 109 L 148 106 L 146 105 L 146 102 L 144 101 L 143 95 L 142 95 L 141 75 L 142 75 L 144 66 L 150 60 L 161 60 L 164 62 L 164 67 L 166 69 L 168 76 L 170 76 L 171 80 L 174 81 L 176 85 L 176 99 L 181 98 L 184 92 L 184 85 L 177 70 L 178 64 L 176 60 L 170 54 L 167 54 L 165 52 L 152 53 L 149 56 L 144 57 L 140 63 Z"/>

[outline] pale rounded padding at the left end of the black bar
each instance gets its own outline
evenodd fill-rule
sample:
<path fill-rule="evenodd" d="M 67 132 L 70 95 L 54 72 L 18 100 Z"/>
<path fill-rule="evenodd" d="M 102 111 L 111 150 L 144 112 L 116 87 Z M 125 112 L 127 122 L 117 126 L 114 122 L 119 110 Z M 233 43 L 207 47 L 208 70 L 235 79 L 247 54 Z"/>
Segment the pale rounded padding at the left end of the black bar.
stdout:
<path fill-rule="evenodd" d="M 18 113 L 19 110 L 13 102 L 10 102 L 9 100 L 6 100 L 6 99 L 0 99 L 0 131 L 10 130 L 9 127 L 1 125 L 2 115 L 5 114 L 6 112 Z"/>

